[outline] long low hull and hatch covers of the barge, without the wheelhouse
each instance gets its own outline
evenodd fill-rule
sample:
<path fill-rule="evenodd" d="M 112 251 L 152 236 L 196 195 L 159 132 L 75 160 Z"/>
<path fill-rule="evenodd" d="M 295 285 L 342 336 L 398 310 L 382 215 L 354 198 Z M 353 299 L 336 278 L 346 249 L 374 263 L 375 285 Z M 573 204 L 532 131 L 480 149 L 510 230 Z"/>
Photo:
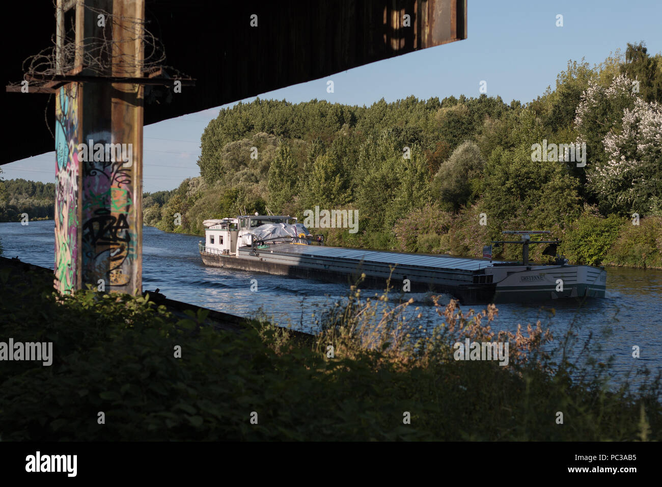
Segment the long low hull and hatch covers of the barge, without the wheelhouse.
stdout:
<path fill-rule="evenodd" d="M 538 264 L 404 254 L 301 244 L 243 246 L 236 254 L 200 246 L 208 266 L 359 284 L 393 292 L 450 294 L 463 304 L 604 298 L 606 271 L 591 266 Z M 361 274 L 365 278 L 361 280 Z"/>

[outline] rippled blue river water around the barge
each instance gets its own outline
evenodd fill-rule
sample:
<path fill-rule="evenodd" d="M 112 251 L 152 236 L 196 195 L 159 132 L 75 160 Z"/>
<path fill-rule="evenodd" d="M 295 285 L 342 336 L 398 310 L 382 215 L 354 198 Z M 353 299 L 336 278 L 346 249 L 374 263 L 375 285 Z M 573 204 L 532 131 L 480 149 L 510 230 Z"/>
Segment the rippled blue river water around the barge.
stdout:
<path fill-rule="evenodd" d="M 234 315 L 256 316 L 264 312 L 279 325 L 308 332 L 315 331 L 316 317 L 348 293 L 342 284 L 207 267 L 198 253 L 200 240 L 201 237 L 144 227 L 143 289 L 159 288 L 167 298 Z M 53 221 L 31 221 L 29 225 L 0 223 L 0 242 L 5 257 L 18 256 L 24 262 L 53 268 Z M 614 356 L 617 376 L 624 378 L 643 366 L 662 368 L 662 271 L 608 268 L 607 272 L 604 299 L 592 299 L 582 306 L 554 303 L 554 315 L 540 305 L 500 304 L 492 328 L 514 332 L 518 323 L 526 328 L 528 323 L 535 325 L 540 319 L 543 327 L 551 329 L 558 339 L 575 323 L 579 339 L 591 333 L 594 345 L 602 349 L 598 358 L 606 362 Z M 255 284 L 257 290 L 252 290 Z M 416 312 L 422 311 L 424 323 L 432 326 L 441 322 L 425 295 L 408 294 L 406 299 L 410 297 L 420 306 Z M 640 358 L 632 357 L 635 345 Z"/>

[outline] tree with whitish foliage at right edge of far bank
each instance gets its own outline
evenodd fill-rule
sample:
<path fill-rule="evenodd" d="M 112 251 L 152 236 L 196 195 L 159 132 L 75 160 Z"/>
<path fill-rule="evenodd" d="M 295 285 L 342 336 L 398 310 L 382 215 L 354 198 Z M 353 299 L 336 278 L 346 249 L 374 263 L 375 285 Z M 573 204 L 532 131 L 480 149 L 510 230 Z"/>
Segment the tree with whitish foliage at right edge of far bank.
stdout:
<path fill-rule="evenodd" d="M 662 106 L 647 103 L 626 76 L 591 83 L 577 107 L 577 142 L 587 142 L 589 188 L 600 205 L 646 214 L 662 196 Z"/>

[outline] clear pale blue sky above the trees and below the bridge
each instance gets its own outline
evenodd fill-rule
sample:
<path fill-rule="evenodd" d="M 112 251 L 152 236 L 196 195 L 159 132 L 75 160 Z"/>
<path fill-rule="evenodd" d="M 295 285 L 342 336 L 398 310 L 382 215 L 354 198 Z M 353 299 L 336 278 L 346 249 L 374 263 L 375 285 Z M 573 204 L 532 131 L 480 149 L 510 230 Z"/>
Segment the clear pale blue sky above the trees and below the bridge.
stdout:
<path fill-rule="evenodd" d="M 556 16 L 563 15 L 563 27 Z M 371 105 L 382 97 L 395 101 L 408 95 L 440 99 L 478 96 L 487 81 L 487 95 L 506 103 L 525 103 L 554 85 L 569 60 L 585 58 L 600 64 L 627 42 L 646 43 L 649 54 L 662 51 L 662 1 L 561 0 L 467 1 L 467 39 L 424 49 L 389 60 L 291 87 L 269 91 L 261 98 L 293 103 L 310 99 L 351 105 Z M 334 81 L 334 93 L 326 81 Z M 195 89 L 195 88 L 193 88 Z M 252 101 L 249 98 L 244 101 Z M 144 129 L 144 189 L 160 191 L 199 176 L 200 136 L 223 105 Z M 2 166 L 1 177 L 54 182 L 55 153 Z"/>

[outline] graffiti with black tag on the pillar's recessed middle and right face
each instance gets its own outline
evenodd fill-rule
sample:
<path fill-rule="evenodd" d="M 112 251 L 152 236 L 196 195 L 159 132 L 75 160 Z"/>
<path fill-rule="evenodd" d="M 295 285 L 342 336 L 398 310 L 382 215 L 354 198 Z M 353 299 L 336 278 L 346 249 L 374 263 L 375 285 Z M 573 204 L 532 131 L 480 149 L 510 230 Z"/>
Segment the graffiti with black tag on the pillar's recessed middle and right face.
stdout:
<path fill-rule="evenodd" d="M 111 134 L 95 133 L 85 139 L 105 145 L 111 143 Z M 131 281 L 137 237 L 130 224 L 135 219 L 132 168 L 109 159 L 113 158 L 88 158 L 83 163 L 83 266 L 85 282 L 103 279 L 117 288 Z"/>

